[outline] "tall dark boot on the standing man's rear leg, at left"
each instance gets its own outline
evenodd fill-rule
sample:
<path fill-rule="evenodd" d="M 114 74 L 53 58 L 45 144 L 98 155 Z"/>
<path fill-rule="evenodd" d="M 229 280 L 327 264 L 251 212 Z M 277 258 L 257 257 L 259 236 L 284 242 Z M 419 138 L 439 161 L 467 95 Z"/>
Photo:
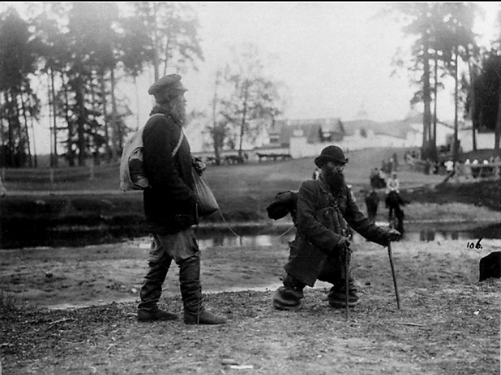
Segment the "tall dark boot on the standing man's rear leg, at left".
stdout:
<path fill-rule="evenodd" d="M 157 303 L 161 296 L 162 285 L 167 276 L 171 259 L 162 263 L 150 262 L 148 274 L 145 276 L 143 286 L 139 295 L 141 302 L 138 304 L 137 319 L 140 322 L 150 322 L 154 320 L 174 320 L 177 315 L 160 310 Z"/>

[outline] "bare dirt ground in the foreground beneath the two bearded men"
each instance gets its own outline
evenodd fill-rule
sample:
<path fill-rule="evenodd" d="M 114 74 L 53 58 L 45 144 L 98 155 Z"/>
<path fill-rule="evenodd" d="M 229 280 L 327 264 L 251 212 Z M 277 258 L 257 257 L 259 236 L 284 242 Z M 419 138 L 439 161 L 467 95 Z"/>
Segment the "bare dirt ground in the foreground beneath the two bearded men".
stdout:
<path fill-rule="evenodd" d="M 273 310 L 287 258 L 280 238 L 269 247 L 205 249 L 204 290 L 233 290 L 205 295 L 207 308 L 228 316 L 222 326 L 136 322 L 146 243 L 1 250 L 0 285 L 8 287 L 0 310 L 3 374 L 500 371 L 500 281 L 477 281 L 479 259 L 501 250 L 501 240 L 481 240 L 482 249 L 463 240 L 395 242 L 400 310 L 387 249 L 354 244 L 361 303 L 349 317 L 328 306 L 321 283 L 306 288 L 301 310 Z M 5 306 L 13 299 L 14 308 Z M 93 306 L 67 306 L 79 304 Z M 47 309 L 54 305 L 59 309 Z M 161 306 L 182 313 L 176 267 Z"/>

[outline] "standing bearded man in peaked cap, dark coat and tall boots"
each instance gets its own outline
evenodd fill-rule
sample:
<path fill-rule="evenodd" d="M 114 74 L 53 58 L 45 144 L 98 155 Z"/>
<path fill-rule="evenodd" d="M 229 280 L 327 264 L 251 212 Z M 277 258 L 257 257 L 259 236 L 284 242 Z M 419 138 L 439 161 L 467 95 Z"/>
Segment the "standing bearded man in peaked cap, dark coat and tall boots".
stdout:
<path fill-rule="evenodd" d="M 191 169 L 202 172 L 205 165 L 192 158 L 183 134 L 184 92 L 179 74 L 160 78 L 148 90 L 157 103 L 143 130 L 143 165 L 150 183 L 143 192 L 143 204 L 153 241 L 137 318 L 140 322 L 177 319 L 177 315 L 158 307 L 162 285 L 174 260 L 179 267 L 184 323 L 222 324 L 225 317 L 202 306 L 200 250 L 192 227 L 198 224 L 198 197 L 193 191 Z"/>

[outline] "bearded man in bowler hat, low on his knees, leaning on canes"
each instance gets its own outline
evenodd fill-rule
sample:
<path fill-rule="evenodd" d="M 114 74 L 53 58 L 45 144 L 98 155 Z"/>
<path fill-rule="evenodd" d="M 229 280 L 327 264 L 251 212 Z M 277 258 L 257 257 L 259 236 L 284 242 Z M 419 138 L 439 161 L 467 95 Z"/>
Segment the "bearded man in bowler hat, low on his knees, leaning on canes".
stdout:
<path fill-rule="evenodd" d="M 395 229 L 376 226 L 358 209 L 344 181 L 343 170 L 348 163 L 340 147 L 328 146 L 315 158 L 321 168 L 317 180 L 305 181 L 297 194 L 296 237 L 290 244 L 289 261 L 283 286 L 273 294 L 273 306 L 278 310 L 301 307 L 303 289 L 315 281 L 326 281 L 333 287 L 328 293 L 329 304 L 335 308 L 356 306 L 358 295 L 351 276 L 348 226 L 369 241 L 388 246 L 400 233 Z"/>

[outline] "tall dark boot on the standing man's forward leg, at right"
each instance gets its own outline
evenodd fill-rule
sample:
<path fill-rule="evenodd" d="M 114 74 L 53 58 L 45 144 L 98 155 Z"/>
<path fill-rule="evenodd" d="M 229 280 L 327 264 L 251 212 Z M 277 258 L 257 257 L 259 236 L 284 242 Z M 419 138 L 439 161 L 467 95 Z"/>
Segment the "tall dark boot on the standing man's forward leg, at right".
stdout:
<path fill-rule="evenodd" d="M 205 310 L 200 285 L 200 254 L 183 260 L 180 266 L 180 289 L 186 324 L 223 324 L 226 318 Z"/>

